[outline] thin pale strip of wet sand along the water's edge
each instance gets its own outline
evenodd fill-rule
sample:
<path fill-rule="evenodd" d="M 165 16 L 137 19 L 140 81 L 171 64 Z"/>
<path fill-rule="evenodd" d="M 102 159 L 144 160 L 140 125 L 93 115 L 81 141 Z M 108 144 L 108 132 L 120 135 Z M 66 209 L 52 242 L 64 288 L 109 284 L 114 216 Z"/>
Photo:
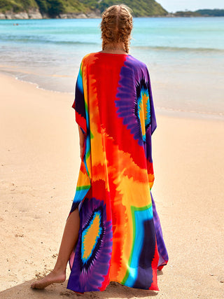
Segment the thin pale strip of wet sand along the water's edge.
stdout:
<path fill-rule="evenodd" d="M 0 66 L 1 67 L 1 66 Z M 27 84 L 31 84 L 34 85 L 36 89 L 38 90 L 43 90 L 43 91 L 48 91 L 48 92 L 55 92 L 61 95 L 72 95 L 73 96 L 73 92 L 62 92 L 62 91 L 58 91 L 58 90 L 50 90 L 50 89 L 46 89 L 46 88 L 41 88 L 38 83 L 34 83 L 34 82 L 30 82 L 30 81 L 26 81 L 26 80 L 22 80 L 20 78 L 18 78 L 15 74 L 10 74 L 7 73 L 5 71 L 2 71 L 0 69 L 0 76 L 8 76 L 10 78 L 13 78 L 17 81 L 23 82 L 23 83 L 27 83 Z M 166 107 L 161 107 L 161 106 L 156 106 L 155 105 L 155 109 L 156 109 L 156 113 L 162 115 L 162 116 L 169 116 L 169 117 L 175 117 L 175 118 L 190 118 L 190 119 L 199 119 L 199 120 L 215 120 L 215 121 L 224 121 L 224 114 L 223 113 L 207 113 L 204 111 L 198 112 L 198 111 L 186 111 L 183 109 L 172 109 L 172 108 L 166 108 Z"/>

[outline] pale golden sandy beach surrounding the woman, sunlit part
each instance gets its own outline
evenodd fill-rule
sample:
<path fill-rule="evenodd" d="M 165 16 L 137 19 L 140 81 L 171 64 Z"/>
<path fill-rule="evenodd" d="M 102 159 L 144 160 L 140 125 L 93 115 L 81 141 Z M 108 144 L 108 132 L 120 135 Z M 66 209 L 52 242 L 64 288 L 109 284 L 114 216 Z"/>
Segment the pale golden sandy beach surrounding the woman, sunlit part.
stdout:
<path fill-rule="evenodd" d="M 80 295 L 67 281 L 32 290 L 55 263 L 75 193 L 73 95 L 2 74 L 0 82 L 0 298 L 223 298 L 224 122 L 168 113 L 156 115 L 153 134 L 152 193 L 169 253 L 160 291 L 111 283 Z"/>

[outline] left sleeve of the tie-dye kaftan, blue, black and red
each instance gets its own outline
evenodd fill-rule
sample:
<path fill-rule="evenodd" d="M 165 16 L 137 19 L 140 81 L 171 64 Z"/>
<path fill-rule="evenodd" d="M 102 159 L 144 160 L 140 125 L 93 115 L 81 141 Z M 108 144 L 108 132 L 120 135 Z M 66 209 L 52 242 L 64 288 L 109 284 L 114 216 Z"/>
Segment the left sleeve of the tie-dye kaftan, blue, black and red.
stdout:
<path fill-rule="evenodd" d="M 87 134 L 86 124 L 86 109 L 85 109 L 85 96 L 83 90 L 83 62 L 80 64 L 78 78 L 75 88 L 75 99 L 72 108 L 76 111 L 76 123 L 80 126 L 84 134 Z"/>

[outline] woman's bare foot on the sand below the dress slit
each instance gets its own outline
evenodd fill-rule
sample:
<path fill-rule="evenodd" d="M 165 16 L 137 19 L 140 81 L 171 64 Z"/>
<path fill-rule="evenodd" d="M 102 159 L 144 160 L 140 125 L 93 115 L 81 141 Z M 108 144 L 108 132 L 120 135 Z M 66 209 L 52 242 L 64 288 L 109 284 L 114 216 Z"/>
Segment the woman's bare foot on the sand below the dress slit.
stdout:
<path fill-rule="evenodd" d="M 52 270 L 47 276 L 43 277 L 40 280 L 34 281 L 31 284 L 31 288 L 45 288 L 50 284 L 59 284 L 60 282 L 64 282 L 66 279 L 65 272 L 57 272 Z"/>

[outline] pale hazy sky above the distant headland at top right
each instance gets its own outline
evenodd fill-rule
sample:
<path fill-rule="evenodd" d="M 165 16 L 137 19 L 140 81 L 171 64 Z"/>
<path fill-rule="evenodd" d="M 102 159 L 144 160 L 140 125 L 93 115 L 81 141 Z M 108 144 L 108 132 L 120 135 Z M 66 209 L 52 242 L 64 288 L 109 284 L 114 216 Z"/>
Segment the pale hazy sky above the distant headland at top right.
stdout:
<path fill-rule="evenodd" d="M 223 8 L 224 0 L 157 0 L 166 11 L 197 11 L 200 8 Z"/>

